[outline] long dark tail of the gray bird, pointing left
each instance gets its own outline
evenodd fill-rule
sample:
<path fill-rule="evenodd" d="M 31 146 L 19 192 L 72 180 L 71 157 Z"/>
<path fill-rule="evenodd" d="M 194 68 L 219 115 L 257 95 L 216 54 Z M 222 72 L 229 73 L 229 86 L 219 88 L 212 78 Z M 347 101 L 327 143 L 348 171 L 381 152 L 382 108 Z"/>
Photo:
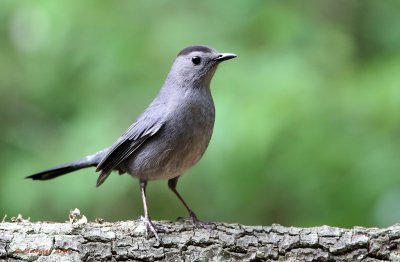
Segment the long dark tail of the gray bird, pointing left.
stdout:
<path fill-rule="evenodd" d="M 97 152 L 96 154 L 84 157 L 77 161 L 69 162 L 60 166 L 56 166 L 39 173 L 27 176 L 25 178 L 31 178 L 33 180 L 48 180 L 53 179 L 58 176 L 62 176 L 76 170 L 86 168 L 86 167 L 95 167 L 100 162 L 101 157 L 103 156 L 103 151 Z"/>

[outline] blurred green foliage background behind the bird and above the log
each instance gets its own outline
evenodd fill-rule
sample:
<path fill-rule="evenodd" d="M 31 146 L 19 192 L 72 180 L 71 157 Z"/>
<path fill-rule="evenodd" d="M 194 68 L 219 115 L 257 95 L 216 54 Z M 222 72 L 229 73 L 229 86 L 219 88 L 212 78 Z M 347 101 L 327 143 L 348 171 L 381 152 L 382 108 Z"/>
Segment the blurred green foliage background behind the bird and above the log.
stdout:
<path fill-rule="evenodd" d="M 178 189 L 206 221 L 287 226 L 400 222 L 400 2 L 0 2 L 0 216 L 142 214 L 138 181 L 86 169 L 24 177 L 111 145 L 176 54 L 239 55 L 212 83 L 217 118 Z M 166 181 L 155 220 L 186 210 Z"/>

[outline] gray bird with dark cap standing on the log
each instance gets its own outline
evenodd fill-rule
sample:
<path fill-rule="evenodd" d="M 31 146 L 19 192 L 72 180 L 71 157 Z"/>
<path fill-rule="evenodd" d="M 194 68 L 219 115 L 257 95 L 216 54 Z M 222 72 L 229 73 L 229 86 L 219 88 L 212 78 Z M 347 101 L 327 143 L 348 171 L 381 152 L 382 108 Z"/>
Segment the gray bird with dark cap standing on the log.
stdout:
<path fill-rule="evenodd" d="M 96 167 L 100 172 L 97 186 L 114 170 L 137 177 L 146 229 L 150 229 L 157 240 L 159 237 L 147 210 L 146 185 L 149 180 L 168 179 L 168 187 L 192 220 L 198 222 L 176 185 L 179 177 L 200 160 L 208 146 L 215 118 L 210 82 L 219 63 L 235 57 L 235 54 L 219 53 L 207 46 L 183 49 L 156 98 L 111 147 L 27 178 L 48 180 L 86 167 Z"/>

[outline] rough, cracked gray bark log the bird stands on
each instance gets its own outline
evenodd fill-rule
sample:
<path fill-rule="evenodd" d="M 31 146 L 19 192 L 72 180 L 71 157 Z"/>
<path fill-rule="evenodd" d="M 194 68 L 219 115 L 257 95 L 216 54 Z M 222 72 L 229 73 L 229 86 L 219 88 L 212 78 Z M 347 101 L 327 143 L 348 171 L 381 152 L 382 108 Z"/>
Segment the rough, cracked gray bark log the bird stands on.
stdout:
<path fill-rule="evenodd" d="M 142 221 L 0 223 L 1 261 L 400 261 L 400 225 L 385 229 Z"/>

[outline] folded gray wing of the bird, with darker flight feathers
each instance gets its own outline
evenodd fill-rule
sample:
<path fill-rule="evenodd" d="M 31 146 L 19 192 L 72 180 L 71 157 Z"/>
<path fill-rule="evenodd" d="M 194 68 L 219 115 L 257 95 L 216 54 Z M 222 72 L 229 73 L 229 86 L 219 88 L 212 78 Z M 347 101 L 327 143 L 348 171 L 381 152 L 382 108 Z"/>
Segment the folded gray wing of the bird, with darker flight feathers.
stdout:
<path fill-rule="evenodd" d="M 156 134 L 162 126 L 161 119 L 148 117 L 142 117 L 133 123 L 97 165 L 96 171 L 101 173 L 96 186 L 100 186 L 122 161 L 135 152 L 149 137 Z"/>

